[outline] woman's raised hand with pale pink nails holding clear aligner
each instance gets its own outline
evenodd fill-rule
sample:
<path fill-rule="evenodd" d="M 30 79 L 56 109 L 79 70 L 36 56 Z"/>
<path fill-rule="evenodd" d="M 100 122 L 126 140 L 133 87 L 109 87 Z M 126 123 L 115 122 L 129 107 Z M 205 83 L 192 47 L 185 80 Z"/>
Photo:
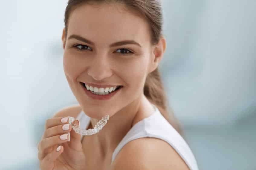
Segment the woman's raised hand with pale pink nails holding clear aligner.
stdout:
<path fill-rule="evenodd" d="M 42 170 L 80 170 L 85 168 L 81 135 L 76 133 L 68 122 L 67 117 L 47 119 L 44 134 L 37 146 Z M 75 120 L 74 123 L 79 125 L 78 120 Z M 63 130 L 63 125 L 68 126 L 68 130 Z M 68 142 L 68 132 L 70 132 L 70 142 Z M 65 136 L 67 139 L 61 139 Z M 59 145 L 60 150 L 57 151 Z"/>

